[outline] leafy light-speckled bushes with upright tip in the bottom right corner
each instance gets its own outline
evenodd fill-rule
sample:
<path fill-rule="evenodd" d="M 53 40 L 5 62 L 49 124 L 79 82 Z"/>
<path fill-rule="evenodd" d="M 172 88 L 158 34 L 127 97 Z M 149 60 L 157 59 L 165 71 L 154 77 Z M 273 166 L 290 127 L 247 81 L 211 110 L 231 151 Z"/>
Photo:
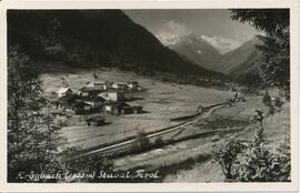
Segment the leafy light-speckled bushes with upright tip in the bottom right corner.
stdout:
<path fill-rule="evenodd" d="M 226 148 L 216 153 L 226 181 L 238 182 L 289 182 L 290 142 L 286 140 L 272 152 L 264 133 L 263 119 L 256 116 L 259 123 L 251 142 L 231 140 Z M 274 144 L 272 144 L 274 145 Z"/>

